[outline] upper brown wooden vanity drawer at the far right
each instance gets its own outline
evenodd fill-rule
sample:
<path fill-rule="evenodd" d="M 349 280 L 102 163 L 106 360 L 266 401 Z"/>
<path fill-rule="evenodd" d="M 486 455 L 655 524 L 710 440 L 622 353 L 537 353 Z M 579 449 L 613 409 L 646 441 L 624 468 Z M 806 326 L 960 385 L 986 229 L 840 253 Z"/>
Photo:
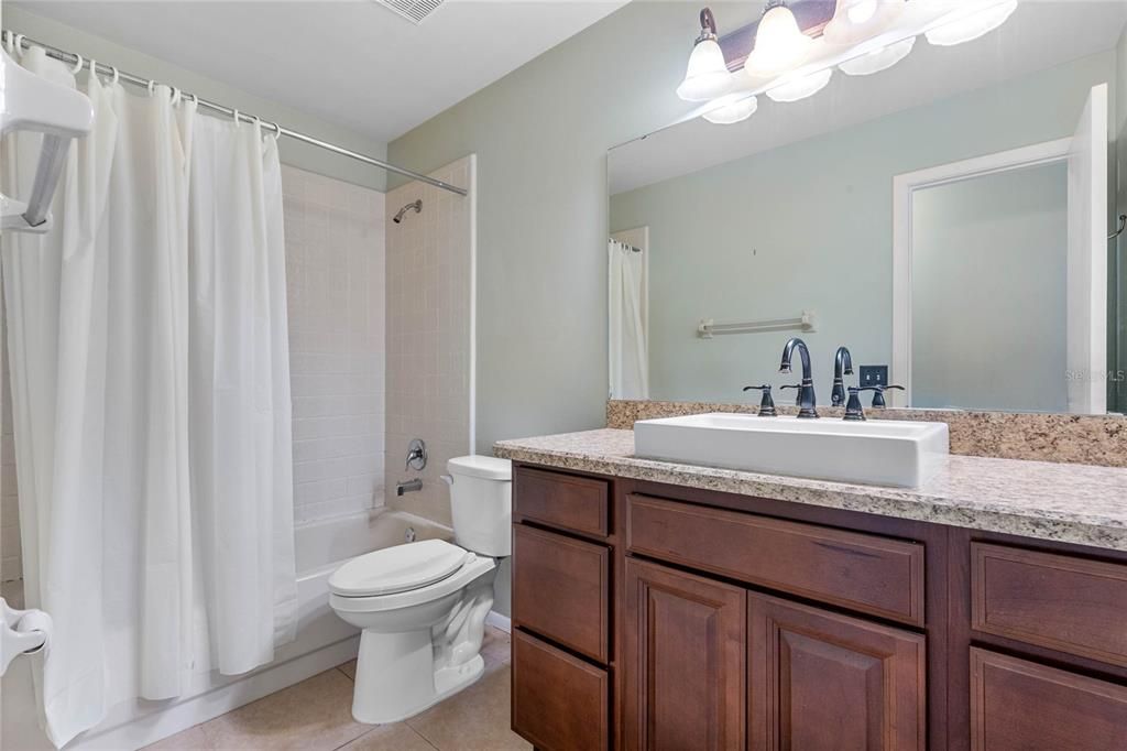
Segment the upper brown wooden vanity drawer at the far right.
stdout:
<path fill-rule="evenodd" d="M 1127 566 L 971 542 L 975 630 L 1127 665 L 1125 622 Z"/>

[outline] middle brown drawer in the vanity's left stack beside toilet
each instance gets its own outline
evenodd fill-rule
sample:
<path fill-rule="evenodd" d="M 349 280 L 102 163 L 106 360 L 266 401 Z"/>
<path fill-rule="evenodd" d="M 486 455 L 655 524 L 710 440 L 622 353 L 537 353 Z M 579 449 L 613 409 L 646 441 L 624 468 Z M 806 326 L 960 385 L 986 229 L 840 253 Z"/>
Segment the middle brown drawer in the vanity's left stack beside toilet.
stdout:
<path fill-rule="evenodd" d="M 569 650 L 610 659 L 610 548 L 513 527 L 513 620 Z"/>

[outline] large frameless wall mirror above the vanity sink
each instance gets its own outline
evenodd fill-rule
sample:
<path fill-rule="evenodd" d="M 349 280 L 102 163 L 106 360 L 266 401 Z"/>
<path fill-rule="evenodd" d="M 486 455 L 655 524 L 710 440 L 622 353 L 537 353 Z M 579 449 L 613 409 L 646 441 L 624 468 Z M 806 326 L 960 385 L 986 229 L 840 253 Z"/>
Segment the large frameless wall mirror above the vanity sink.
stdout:
<path fill-rule="evenodd" d="M 790 6 L 817 38 L 835 3 Z M 1109 237 L 1127 212 L 1127 2 L 1027 0 L 957 45 L 916 32 L 884 39 L 908 51 L 887 70 L 838 60 L 811 96 L 702 104 L 611 150 L 614 398 L 749 401 L 770 382 L 782 403 L 800 336 L 819 404 L 845 345 L 849 382 L 887 378 L 896 406 L 1127 408 L 1127 235 Z"/>

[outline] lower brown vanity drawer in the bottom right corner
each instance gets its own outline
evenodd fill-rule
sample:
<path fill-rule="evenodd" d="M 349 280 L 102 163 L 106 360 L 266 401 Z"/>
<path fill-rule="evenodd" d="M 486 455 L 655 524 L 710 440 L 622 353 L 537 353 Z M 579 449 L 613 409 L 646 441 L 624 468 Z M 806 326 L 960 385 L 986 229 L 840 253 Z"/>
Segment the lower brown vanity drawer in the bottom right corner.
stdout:
<path fill-rule="evenodd" d="M 1121 751 L 1125 745 L 1127 688 L 971 647 L 974 751 Z"/>

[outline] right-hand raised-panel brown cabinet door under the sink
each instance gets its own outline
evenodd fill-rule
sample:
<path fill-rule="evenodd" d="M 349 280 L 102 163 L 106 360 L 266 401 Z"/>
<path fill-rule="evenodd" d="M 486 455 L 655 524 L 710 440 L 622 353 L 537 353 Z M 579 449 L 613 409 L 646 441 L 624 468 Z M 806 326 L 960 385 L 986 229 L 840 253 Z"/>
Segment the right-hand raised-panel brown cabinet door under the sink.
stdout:
<path fill-rule="evenodd" d="M 748 630 L 751 749 L 925 748 L 923 636 L 758 594 Z"/>

